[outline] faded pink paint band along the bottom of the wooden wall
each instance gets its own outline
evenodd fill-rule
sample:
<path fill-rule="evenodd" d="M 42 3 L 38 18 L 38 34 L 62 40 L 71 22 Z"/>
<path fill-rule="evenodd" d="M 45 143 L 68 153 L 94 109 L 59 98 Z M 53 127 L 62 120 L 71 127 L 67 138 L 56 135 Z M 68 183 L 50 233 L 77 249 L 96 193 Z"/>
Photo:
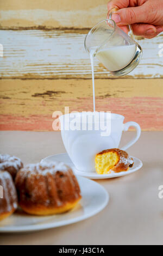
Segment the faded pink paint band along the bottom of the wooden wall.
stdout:
<path fill-rule="evenodd" d="M 76 100 L 70 100 L 70 111 L 90 111 L 92 98 L 87 97 Z M 90 105 L 90 106 L 89 106 Z M 124 115 L 126 121 L 136 121 L 140 124 L 143 131 L 162 131 L 163 130 L 163 104 L 159 97 L 135 97 L 133 98 L 110 98 L 96 100 L 96 108 L 98 111 L 111 111 Z M 21 131 L 52 131 L 52 123 L 54 119 L 49 111 L 48 115 L 32 114 L 32 115 L 10 115 L 1 114 L 0 130 L 21 130 Z"/>

